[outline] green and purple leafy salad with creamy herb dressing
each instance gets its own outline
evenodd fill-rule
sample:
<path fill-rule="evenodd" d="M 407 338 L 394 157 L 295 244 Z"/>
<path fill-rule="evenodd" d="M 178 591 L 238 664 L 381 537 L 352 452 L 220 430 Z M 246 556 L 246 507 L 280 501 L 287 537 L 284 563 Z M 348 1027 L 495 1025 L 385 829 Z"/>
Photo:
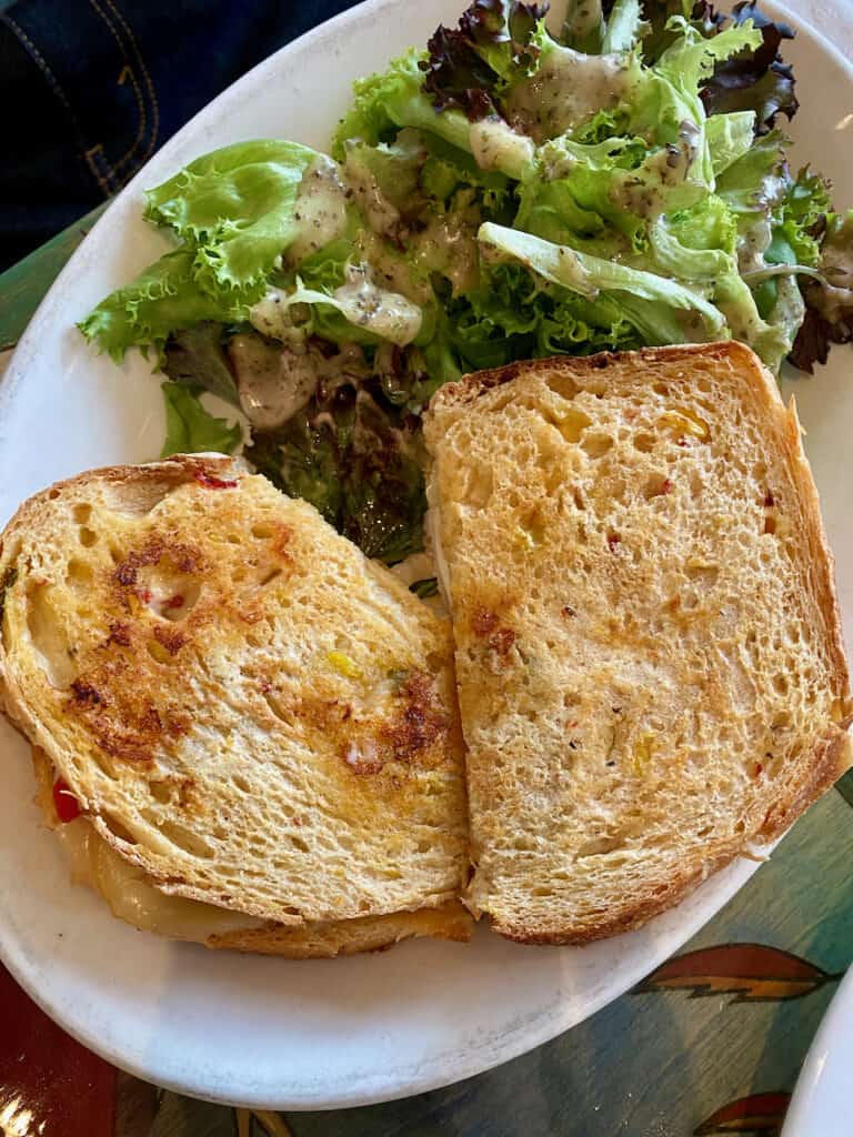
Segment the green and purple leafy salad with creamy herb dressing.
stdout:
<path fill-rule="evenodd" d="M 150 190 L 173 248 L 80 325 L 164 374 L 164 454 L 245 454 L 372 557 L 422 547 L 420 421 L 514 359 L 853 339 L 853 210 L 795 173 L 793 36 L 754 3 L 474 0 L 355 84 L 328 153 L 275 139 Z M 421 582 L 422 583 L 422 582 Z"/>

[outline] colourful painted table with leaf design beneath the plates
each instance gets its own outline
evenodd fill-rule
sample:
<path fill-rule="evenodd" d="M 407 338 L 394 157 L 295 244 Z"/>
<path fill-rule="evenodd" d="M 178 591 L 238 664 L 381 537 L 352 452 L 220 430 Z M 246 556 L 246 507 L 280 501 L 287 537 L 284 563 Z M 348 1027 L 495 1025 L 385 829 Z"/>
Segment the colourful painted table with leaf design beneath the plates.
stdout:
<path fill-rule="evenodd" d="M 845 2 L 837 0 L 836 11 Z M 826 28 L 833 7 L 826 0 L 797 5 L 801 18 Z M 0 275 L 0 375 L 8 350 L 99 213 Z M 853 960 L 852 811 L 853 772 L 797 823 L 738 896 L 635 990 L 514 1062 L 384 1105 L 283 1117 L 158 1090 L 65 1036 L 0 968 L 0 1132 L 772 1137 Z"/>

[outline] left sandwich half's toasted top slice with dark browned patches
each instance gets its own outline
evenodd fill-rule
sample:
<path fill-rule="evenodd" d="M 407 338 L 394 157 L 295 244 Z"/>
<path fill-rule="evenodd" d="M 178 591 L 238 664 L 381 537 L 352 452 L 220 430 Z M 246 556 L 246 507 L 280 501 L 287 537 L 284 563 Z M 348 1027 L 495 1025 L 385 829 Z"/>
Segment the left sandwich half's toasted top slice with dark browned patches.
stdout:
<path fill-rule="evenodd" d="M 226 458 L 96 471 L 0 582 L 7 713 L 162 894 L 312 935 L 457 897 L 449 629 L 313 507 Z"/>

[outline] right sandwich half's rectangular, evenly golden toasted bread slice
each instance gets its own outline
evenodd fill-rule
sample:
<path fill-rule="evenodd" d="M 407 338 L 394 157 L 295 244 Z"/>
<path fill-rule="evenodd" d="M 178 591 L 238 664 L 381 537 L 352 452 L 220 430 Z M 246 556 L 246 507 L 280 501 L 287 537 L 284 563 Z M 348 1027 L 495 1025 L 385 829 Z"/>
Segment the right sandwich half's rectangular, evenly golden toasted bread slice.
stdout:
<path fill-rule="evenodd" d="M 850 765 L 800 433 L 738 343 L 514 364 L 433 398 L 469 901 L 504 936 L 638 926 Z"/>

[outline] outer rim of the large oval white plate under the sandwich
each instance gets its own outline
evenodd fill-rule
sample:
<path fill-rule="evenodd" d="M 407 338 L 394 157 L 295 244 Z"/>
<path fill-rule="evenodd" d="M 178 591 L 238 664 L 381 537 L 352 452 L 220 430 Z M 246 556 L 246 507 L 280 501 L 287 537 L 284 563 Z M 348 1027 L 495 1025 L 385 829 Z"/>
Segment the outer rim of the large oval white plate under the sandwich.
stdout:
<path fill-rule="evenodd" d="M 148 181 L 149 167 L 155 163 L 159 164 L 160 161 L 167 161 L 168 156 L 173 152 L 173 150 L 180 149 L 184 144 L 184 140 L 187 138 L 198 133 L 200 122 L 206 119 L 208 115 L 215 115 L 216 110 L 218 110 L 222 106 L 227 106 L 229 101 L 233 98 L 235 90 L 238 90 L 241 84 L 248 82 L 250 76 L 257 77 L 259 73 L 267 68 L 271 70 L 275 69 L 278 60 L 282 56 L 312 47 L 316 50 L 322 47 L 324 40 L 338 41 L 346 34 L 346 28 L 350 23 L 359 23 L 365 18 L 380 16 L 386 9 L 396 8 L 403 3 L 405 3 L 405 0 L 363 0 L 363 2 L 339 13 L 316 27 L 309 28 L 303 35 L 290 41 L 272 55 L 267 56 L 265 59 L 260 60 L 255 67 L 241 75 L 234 81 L 234 83 L 230 84 L 230 86 L 227 86 L 224 91 L 216 96 L 216 98 L 210 100 L 210 102 L 193 115 L 193 117 L 184 126 L 182 126 L 180 131 L 177 131 L 151 156 L 144 166 L 141 167 L 133 179 L 131 179 L 131 181 L 110 201 L 107 209 L 105 209 L 103 214 L 98 218 L 96 224 L 81 242 L 81 246 L 75 250 L 68 263 L 52 282 L 42 301 L 39 304 L 30 324 L 27 325 L 27 329 L 13 352 L 3 376 L 3 382 L 0 384 L 0 416 L 2 416 L 6 407 L 13 401 L 18 383 L 24 381 L 25 372 L 33 356 L 38 355 L 36 334 L 39 331 L 38 325 L 40 323 L 41 314 L 50 305 L 52 298 L 57 293 L 61 292 L 65 280 L 71 277 L 76 272 L 78 263 L 88 255 L 89 248 L 96 242 L 94 234 L 99 233 L 101 225 L 108 227 L 114 213 L 121 211 L 125 207 L 129 198 L 138 196 L 139 188 L 142 183 Z M 464 0 L 459 0 L 459 5 L 462 6 Z M 810 41 L 812 48 L 828 55 L 846 75 L 851 84 L 851 89 L 853 90 L 853 63 L 848 61 L 835 47 L 835 44 L 822 34 L 822 32 L 815 28 L 812 24 L 806 23 L 786 3 L 776 2 L 776 0 L 767 0 L 765 7 L 788 22 L 796 30 L 800 39 Z M 848 18 L 853 23 L 853 15 Z M 316 42 L 313 43 L 313 41 Z M 717 915 L 740 890 L 740 888 L 746 885 L 756 869 L 756 864 L 738 858 L 732 862 L 727 870 L 723 870 L 729 872 L 731 880 L 727 881 L 724 888 L 721 890 L 722 898 L 720 903 L 713 907 L 713 911 L 707 911 L 707 904 L 703 905 L 701 903 L 696 903 L 696 913 L 691 915 L 689 921 L 684 923 L 684 933 L 679 931 L 676 937 L 677 945 L 671 951 L 679 951 L 693 935 L 695 935 L 705 923 L 713 919 L 714 915 Z M 714 875 L 719 877 L 719 874 Z M 694 897 L 697 897 L 698 895 L 699 894 L 694 894 Z M 689 898 L 687 903 L 689 903 Z M 682 906 L 684 904 L 671 911 L 673 913 L 678 912 Z M 663 918 L 657 919 L 660 920 Z M 42 991 L 38 986 L 38 969 L 28 969 L 25 954 L 23 951 L 16 952 L 16 947 L 20 948 L 17 939 L 10 939 L 6 927 L 0 928 L 0 956 L 15 980 L 24 988 L 36 1005 L 39 1005 L 51 1019 L 57 1021 L 73 1038 L 82 1043 L 82 1045 L 86 1046 L 90 1051 L 98 1054 L 106 1061 L 111 1062 L 116 1067 L 119 1067 L 121 1069 L 126 1070 L 142 1079 L 154 1080 L 163 1088 L 172 1089 L 176 1093 L 189 1095 L 200 1101 L 226 1105 L 234 1104 L 234 1098 L 232 1096 L 216 1090 L 215 1081 L 217 1079 L 212 1078 L 210 1076 L 207 1078 L 197 1077 L 193 1079 L 164 1074 L 164 1072 L 155 1070 L 150 1061 L 148 1064 L 144 1062 L 129 1061 L 123 1052 L 115 1046 L 103 1046 L 98 1037 L 88 1035 L 82 1028 L 77 1029 L 76 1024 L 69 1026 L 64 1018 L 61 1005 L 42 997 Z M 662 956 L 661 958 L 666 957 L 669 957 L 669 955 Z M 466 1078 L 494 1069 L 504 1062 L 512 1061 L 513 1059 L 544 1045 L 550 1039 L 563 1034 L 565 1030 L 571 1029 L 571 1027 L 585 1021 L 585 1019 L 590 1018 L 602 1007 L 621 997 L 639 979 L 647 974 L 649 968 L 653 968 L 656 962 L 660 962 L 657 955 L 651 956 L 648 961 L 637 958 L 633 968 L 628 970 L 621 969 L 620 980 L 616 987 L 603 990 L 601 996 L 589 1004 L 588 1010 L 581 1019 L 574 1019 L 570 1013 L 565 1012 L 557 1014 L 555 1018 L 544 1019 L 538 1027 L 535 1027 L 532 1030 L 529 1029 L 527 1032 L 522 1031 L 515 1036 L 510 1046 L 502 1048 L 499 1056 L 496 1056 L 494 1060 L 488 1062 L 483 1062 L 481 1059 L 478 1060 L 474 1057 L 465 1064 L 457 1065 L 457 1069 L 454 1070 L 450 1078 L 437 1074 L 434 1071 L 431 1077 L 429 1074 L 425 1077 L 419 1077 L 413 1072 L 407 1081 L 398 1081 L 392 1088 L 389 1087 L 381 1094 L 367 1093 L 365 1095 L 351 1092 L 351 1089 L 338 1089 L 334 1093 L 326 1092 L 322 1097 L 316 1094 L 309 1094 L 307 1097 L 295 1097 L 290 1094 L 287 1098 L 279 1099 L 271 1099 L 268 1095 L 255 1096 L 249 1097 L 248 1099 L 241 1098 L 239 1104 L 256 1109 L 267 1107 L 291 1111 L 332 1110 L 396 1101 L 413 1094 L 425 1093 L 432 1089 L 454 1085 Z M 853 986 L 853 972 L 851 973 L 851 985 Z M 821 1031 L 823 1026 L 826 1026 L 826 1022 L 821 1026 Z M 785 1131 L 785 1135 L 787 1137 L 787 1130 Z M 793 1134 L 792 1137 L 794 1137 Z"/>

